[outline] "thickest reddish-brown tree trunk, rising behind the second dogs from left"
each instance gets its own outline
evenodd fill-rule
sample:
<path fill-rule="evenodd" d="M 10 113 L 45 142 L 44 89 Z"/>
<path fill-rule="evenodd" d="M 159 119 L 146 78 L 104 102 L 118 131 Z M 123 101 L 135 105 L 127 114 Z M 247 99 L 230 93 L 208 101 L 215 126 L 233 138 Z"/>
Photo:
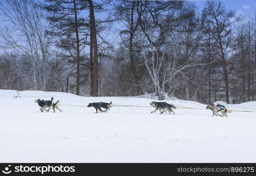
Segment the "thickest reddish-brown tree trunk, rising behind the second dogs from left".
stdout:
<path fill-rule="evenodd" d="M 88 0 L 90 5 L 90 22 L 93 37 L 93 96 L 98 96 L 98 53 L 97 53 L 97 32 L 94 18 L 93 1 Z"/>

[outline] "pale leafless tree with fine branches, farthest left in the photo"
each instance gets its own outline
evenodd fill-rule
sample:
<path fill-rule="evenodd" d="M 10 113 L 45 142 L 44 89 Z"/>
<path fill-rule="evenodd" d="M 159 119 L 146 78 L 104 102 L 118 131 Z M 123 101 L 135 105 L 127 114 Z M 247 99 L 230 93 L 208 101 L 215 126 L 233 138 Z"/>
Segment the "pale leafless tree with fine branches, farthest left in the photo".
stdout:
<path fill-rule="evenodd" d="M 42 11 L 37 4 L 28 0 L 1 1 L 0 8 L 5 18 L 13 25 L 12 29 L 6 26 L 1 30 L 2 46 L 15 49 L 19 55 L 28 57 L 31 61 L 34 89 L 45 90 L 45 62 L 49 43 L 44 35 Z"/>

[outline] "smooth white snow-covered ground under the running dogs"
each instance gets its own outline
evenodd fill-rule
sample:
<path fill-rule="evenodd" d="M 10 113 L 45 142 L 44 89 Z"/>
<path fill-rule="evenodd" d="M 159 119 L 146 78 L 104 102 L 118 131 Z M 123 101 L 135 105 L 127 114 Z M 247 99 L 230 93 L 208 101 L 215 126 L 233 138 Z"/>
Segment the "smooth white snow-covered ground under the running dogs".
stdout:
<path fill-rule="evenodd" d="M 153 107 L 95 113 L 93 101 L 149 106 L 150 99 L 81 97 L 60 92 L 0 90 L 0 162 L 256 162 L 256 113 L 212 117 L 205 104 L 166 100 L 175 115 Z M 60 100 L 63 112 L 41 113 L 35 99 Z M 72 104 L 78 106 L 64 106 Z M 256 111 L 256 101 L 228 104 Z M 50 110 L 51 111 L 51 110 Z"/>

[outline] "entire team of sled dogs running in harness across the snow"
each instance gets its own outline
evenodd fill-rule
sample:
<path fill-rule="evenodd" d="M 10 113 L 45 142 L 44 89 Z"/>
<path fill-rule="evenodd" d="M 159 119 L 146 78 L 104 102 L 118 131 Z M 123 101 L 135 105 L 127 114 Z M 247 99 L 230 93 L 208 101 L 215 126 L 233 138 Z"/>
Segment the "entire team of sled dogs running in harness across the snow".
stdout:
<path fill-rule="evenodd" d="M 53 97 L 51 97 L 51 100 L 40 100 L 37 99 L 35 100 L 35 103 L 38 103 L 38 106 L 40 106 L 40 111 L 43 112 L 45 111 L 49 111 L 51 108 L 53 110 L 53 113 L 55 113 L 55 109 L 62 111 L 61 109 L 58 108 L 58 104 L 60 103 L 59 100 L 56 101 L 56 103 L 53 103 Z M 110 105 L 112 104 L 112 101 L 110 103 L 105 103 L 105 102 L 97 102 L 97 103 L 89 103 L 87 107 L 94 107 L 96 109 L 96 113 L 99 112 L 107 112 L 108 110 L 110 110 Z M 149 103 L 152 107 L 155 107 L 155 110 L 153 110 L 151 113 L 155 113 L 157 110 L 160 112 L 160 114 L 162 113 L 166 113 L 167 111 L 170 113 L 174 113 L 173 109 L 176 109 L 176 107 L 173 104 L 169 104 L 166 102 L 157 102 L 157 101 L 152 101 L 151 103 Z M 47 109 L 48 108 L 48 109 Z M 101 108 L 105 109 L 102 110 Z M 221 117 L 228 117 L 227 113 L 231 113 L 232 110 L 228 110 L 225 106 L 221 105 L 221 104 L 209 104 L 208 106 L 206 106 L 206 109 L 211 110 L 212 111 L 212 116 L 221 116 Z M 221 112 L 221 115 L 219 114 L 219 112 Z"/>

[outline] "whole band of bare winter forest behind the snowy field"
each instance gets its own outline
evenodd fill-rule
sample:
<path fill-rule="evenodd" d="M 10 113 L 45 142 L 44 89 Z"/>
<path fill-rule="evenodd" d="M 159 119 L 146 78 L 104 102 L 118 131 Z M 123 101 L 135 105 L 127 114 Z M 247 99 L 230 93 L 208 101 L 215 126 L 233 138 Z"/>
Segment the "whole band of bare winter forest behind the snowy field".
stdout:
<path fill-rule="evenodd" d="M 0 89 L 256 100 L 256 13 L 221 1 L 2 0 L 0 15 Z"/>

